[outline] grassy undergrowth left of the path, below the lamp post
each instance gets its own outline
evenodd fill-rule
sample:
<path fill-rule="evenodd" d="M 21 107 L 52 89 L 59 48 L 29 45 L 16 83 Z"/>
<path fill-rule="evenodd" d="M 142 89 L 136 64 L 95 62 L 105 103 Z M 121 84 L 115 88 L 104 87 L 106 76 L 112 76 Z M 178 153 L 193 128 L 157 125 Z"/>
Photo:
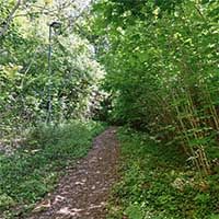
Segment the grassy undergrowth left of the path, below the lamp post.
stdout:
<path fill-rule="evenodd" d="M 94 122 L 41 125 L 19 150 L 0 154 L 0 215 L 22 218 L 57 185 L 67 166 L 87 154 L 103 129 Z"/>

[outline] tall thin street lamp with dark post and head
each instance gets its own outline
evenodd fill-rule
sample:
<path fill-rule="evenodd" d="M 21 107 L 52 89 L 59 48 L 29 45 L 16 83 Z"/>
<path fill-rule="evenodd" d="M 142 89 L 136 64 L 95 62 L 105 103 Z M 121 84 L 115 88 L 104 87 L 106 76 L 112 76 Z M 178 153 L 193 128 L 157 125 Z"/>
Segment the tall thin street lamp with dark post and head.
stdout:
<path fill-rule="evenodd" d="M 55 21 L 49 24 L 49 34 L 48 34 L 48 102 L 47 102 L 47 116 L 46 116 L 46 123 L 49 124 L 51 120 L 51 92 L 50 92 L 50 85 L 51 85 L 51 34 L 53 30 L 56 32 L 56 30 L 61 27 L 61 23 L 58 21 Z"/>

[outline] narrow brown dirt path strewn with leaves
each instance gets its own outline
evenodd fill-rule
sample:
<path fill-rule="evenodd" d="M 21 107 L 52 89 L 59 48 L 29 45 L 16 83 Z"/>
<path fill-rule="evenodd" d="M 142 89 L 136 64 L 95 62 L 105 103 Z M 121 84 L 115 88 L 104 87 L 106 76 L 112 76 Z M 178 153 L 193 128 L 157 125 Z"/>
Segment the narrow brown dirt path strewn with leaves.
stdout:
<path fill-rule="evenodd" d="M 94 140 L 88 157 L 67 172 L 57 189 L 28 219 L 105 219 L 106 199 L 116 180 L 118 141 L 116 129 L 107 129 Z"/>

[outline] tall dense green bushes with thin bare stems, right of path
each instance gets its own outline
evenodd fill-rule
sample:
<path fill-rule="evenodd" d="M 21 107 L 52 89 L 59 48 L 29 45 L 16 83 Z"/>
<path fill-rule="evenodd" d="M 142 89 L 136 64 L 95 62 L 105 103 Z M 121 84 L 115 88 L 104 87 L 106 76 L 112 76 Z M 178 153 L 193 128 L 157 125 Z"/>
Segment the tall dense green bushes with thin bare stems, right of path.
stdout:
<path fill-rule="evenodd" d="M 181 143 L 209 174 L 218 162 L 218 3 L 110 0 L 94 9 L 114 120 Z"/>

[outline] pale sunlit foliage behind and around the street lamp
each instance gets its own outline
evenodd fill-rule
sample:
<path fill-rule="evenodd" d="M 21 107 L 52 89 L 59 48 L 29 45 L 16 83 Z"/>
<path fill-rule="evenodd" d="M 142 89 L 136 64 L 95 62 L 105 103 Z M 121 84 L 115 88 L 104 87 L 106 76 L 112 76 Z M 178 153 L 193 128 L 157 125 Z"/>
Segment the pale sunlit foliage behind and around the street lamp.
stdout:
<path fill-rule="evenodd" d="M 0 0 L 0 32 L 15 2 Z M 12 138 L 26 127 L 46 120 L 49 88 L 53 122 L 92 117 L 99 107 L 102 99 L 99 82 L 104 70 L 94 59 L 93 46 L 76 30 L 67 28 L 70 21 L 66 15 L 81 9 L 69 4 L 68 0 L 62 3 L 65 7 L 59 10 L 57 1 L 50 5 L 53 9 L 44 1 L 21 1 L 8 31 L 0 38 L 1 137 Z M 53 13 L 48 13 L 50 10 Z M 49 76 L 47 23 L 57 20 L 57 11 L 62 31 L 51 34 Z"/>

